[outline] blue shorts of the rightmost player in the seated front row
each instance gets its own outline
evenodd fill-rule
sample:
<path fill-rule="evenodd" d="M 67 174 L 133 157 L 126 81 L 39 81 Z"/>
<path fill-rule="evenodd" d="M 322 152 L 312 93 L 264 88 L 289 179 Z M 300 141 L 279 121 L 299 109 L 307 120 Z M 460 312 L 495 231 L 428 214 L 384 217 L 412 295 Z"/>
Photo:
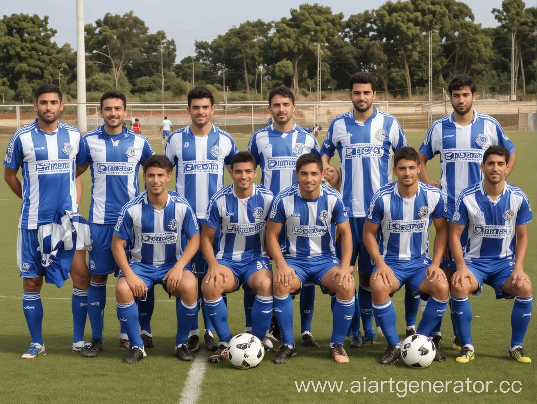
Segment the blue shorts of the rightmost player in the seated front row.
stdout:
<path fill-rule="evenodd" d="M 487 284 L 494 288 L 497 299 L 512 299 L 513 295 L 505 293 L 503 290 L 503 284 L 509 279 L 514 269 L 514 260 L 511 258 L 498 258 L 498 259 L 470 259 L 465 260 L 466 266 L 474 274 L 477 282 L 479 282 L 479 288 L 472 293 L 474 296 L 481 295 L 481 288 L 483 284 Z"/>

